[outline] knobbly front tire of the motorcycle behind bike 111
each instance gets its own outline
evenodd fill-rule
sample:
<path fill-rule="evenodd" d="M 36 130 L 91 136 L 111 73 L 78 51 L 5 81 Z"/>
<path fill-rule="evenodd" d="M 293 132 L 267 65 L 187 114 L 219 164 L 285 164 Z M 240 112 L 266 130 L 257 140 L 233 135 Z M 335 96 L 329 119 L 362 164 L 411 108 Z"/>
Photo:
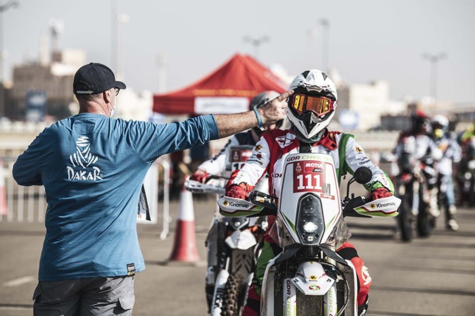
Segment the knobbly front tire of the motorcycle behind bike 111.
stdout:
<path fill-rule="evenodd" d="M 241 315 L 244 308 L 245 291 L 243 277 L 239 273 L 231 273 L 224 288 L 222 316 Z"/>

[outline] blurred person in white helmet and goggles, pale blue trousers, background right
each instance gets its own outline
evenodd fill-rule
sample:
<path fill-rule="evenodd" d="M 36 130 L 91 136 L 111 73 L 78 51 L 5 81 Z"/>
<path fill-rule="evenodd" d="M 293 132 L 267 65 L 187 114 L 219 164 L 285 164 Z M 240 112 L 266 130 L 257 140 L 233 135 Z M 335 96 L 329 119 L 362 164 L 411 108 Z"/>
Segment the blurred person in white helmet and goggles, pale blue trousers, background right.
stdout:
<path fill-rule="evenodd" d="M 454 219 L 457 212 L 455 207 L 454 183 L 452 180 L 452 163 L 462 159 L 462 150 L 455 139 L 448 132 L 449 120 L 443 115 L 435 115 L 430 121 L 432 139 L 442 151 L 442 159 L 437 164 L 440 183 L 445 185 L 445 225 L 449 230 L 457 230 L 459 225 Z"/>

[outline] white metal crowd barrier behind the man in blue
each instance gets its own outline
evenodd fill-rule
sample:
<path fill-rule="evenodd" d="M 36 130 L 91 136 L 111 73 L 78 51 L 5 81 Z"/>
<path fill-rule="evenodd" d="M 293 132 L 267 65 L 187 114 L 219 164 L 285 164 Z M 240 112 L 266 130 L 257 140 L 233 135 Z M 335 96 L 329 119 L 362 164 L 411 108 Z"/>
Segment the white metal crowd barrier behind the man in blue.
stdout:
<path fill-rule="evenodd" d="M 3 177 L 5 179 L 5 192 L 7 203 L 7 214 L 1 216 L 0 222 L 6 219 L 7 222 L 24 222 L 29 223 L 45 221 L 45 212 L 47 209 L 46 192 L 44 186 L 18 185 L 13 179 L 12 170 L 16 158 L 3 157 Z M 163 168 L 163 228 L 160 234 L 161 239 L 165 239 L 169 233 L 170 223 L 170 165 L 166 160 L 155 161 L 145 177 L 144 186 L 149 200 L 151 222 L 138 220 L 139 224 L 156 224 L 158 222 L 158 179 L 159 168 Z M 0 171 L 0 176 L 1 176 Z"/>

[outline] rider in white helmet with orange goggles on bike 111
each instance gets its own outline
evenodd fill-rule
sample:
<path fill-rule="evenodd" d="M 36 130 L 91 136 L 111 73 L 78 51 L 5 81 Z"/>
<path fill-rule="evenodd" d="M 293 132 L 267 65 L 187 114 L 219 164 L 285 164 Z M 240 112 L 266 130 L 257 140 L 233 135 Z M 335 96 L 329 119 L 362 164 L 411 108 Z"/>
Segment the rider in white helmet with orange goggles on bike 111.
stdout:
<path fill-rule="evenodd" d="M 281 184 L 279 176 L 282 176 L 286 155 L 313 152 L 332 155 L 338 179 L 347 172 L 353 174 L 360 166 L 369 167 L 373 171 L 373 178 L 365 187 L 371 191 L 372 198 L 391 196 L 394 189 L 389 177 L 368 159 L 353 135 L 330 132 L 327 129 L 337 104 L 336 88 L 332 80 L 320 70 L 311 69 L 299 74 L 290 84 L 290 89 L 294 90 L 294 94 L 288 99 L 287 109 L 291 128 L 285 131 L 273 130 L 261 136 L 252 156 L 241 169 L 233 172 L 227 184 L 226 195 L 241 199 L 248 197 L 257 181 L 268 172 L 269 192 L 278 196 Z M 269 227 L 274 221 L 274 216 L 268 217 Z M 281 251 L 269 236 L 269 228 L 265 239 L 243 315 L 260 314 L 264 272 L 269 260 Z M 345 242 L 337 253 L 344 259 L 351 260 L 355 266 L 358 275 L 358 315 L 364 315 L 372 283 L 368 269 L 351 243 Z"/>

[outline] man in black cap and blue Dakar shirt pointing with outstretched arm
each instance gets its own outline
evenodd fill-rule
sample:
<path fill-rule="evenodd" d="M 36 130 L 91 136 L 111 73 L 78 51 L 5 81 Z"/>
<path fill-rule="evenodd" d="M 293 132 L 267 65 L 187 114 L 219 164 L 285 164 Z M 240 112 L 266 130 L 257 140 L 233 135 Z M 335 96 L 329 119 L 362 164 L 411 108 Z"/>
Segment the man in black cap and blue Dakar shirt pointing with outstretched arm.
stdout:
<path fill-rule="evenodd" d="M 257 111 L 156 125 L 111 118 L 125 88 L 105 65 L 81 67 L 79 114 L 45 129 L 13 166 L 18 184 L 44 185 L 47 196 L 35 315 L 131 315 L 134 274 L 145 268 L 137 205 L 152 162 L 282 119 L 291 94 Z"/>

